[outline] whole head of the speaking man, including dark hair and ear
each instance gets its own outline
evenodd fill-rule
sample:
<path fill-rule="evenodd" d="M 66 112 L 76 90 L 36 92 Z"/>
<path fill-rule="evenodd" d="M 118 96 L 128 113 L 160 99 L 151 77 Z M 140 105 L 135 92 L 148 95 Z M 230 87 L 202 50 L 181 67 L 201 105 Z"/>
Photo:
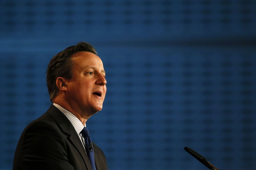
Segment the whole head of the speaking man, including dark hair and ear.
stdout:
<path fill-rule="evenodd" d="M 47 69 L 47 86 L 52 102 L 65 100 L 77 112 L 101 110 L 106 94 L 103 63 L 95 49 L 80 42 L 55 55 Z"/>

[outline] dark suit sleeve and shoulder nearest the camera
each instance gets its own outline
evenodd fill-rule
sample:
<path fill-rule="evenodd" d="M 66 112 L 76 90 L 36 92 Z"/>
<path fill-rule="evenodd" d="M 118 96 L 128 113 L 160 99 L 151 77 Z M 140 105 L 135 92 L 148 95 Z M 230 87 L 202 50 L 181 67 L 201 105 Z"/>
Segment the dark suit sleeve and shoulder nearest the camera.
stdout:
<path fill-rule="evenodd" d="M 67 137 L 55 119 L 45 113 L 21 134 L 13 169 L 73 169 L 68 160 Z"/>

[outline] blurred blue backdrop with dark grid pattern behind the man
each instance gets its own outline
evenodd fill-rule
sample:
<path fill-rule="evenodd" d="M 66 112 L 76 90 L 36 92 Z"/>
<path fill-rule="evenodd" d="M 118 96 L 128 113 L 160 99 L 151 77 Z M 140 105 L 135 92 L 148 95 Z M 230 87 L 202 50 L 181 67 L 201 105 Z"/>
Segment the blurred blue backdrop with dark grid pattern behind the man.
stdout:
<path fill-rule="evenodd" d="M 0 169 L 22 130 L 51 105 L 55 54 L 91 43 L 107 72 L 101 112 L 87 122 L 110 170 L 253 170 L 255 0 L 2 0 Z"/>

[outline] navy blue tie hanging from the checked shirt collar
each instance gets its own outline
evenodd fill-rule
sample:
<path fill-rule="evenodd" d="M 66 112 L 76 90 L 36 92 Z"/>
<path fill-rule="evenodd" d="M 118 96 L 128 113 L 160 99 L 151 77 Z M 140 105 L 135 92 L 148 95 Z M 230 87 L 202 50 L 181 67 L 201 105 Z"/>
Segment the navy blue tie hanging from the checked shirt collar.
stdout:
<path fill-rule="evenodd" d="M 84 127 L 84 129 L 81 131 L 81 134 L 84 138 L 84 148 L 85 148 L 87 156 L 90 160 L 92 170 L 96 170 L 95 160 L 94 160 L 94 151 L 93 151 L 93 147 L 92 147 L 92 140 L 90 138 L 90 132 L 86 127 Z"/>

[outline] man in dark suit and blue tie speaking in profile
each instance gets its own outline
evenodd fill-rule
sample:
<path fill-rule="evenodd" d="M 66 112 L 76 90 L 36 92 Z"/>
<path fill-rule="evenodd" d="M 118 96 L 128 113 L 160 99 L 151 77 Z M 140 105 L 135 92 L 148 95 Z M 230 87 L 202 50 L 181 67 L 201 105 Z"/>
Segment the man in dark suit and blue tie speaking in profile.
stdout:
<path fill-rule="evenodd" d="M 103 152 L 85 130 L 87 119 L 102 109 L 107 90 L 96 54 L 80 42 L 52 58 L 46 79 L 53 105 L 24 129 L 13 170 L 107 169 Z"/>

